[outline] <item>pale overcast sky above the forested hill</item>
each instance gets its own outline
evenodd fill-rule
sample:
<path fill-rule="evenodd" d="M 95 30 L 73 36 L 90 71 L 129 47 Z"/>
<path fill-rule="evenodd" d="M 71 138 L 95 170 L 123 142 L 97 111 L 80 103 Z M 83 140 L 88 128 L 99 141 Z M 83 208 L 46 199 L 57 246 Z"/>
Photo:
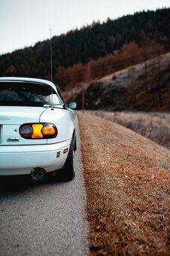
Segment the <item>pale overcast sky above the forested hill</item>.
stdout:
<path fill-rule="evenodd" d="M 136 11 L 170 7 L 170 0 L 0 0 L 0 54 Z"/>

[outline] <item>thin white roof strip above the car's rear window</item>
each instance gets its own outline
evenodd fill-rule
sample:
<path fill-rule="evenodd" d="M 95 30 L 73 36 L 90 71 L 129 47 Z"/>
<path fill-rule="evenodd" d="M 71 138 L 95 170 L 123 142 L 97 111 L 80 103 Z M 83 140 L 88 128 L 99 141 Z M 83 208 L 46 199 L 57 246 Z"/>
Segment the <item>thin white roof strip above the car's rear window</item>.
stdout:
<path fill-rule="evenodd" d="M 18 82 L 33 82 L 33 83 L 40 83 L 40 84 L 48 84 L 56 89 L 56 86 L 48 80 L 39 79 L 39 78 L 19 78 L 19 77 L 0 77 L 0 81 L 18 81 Z"/>

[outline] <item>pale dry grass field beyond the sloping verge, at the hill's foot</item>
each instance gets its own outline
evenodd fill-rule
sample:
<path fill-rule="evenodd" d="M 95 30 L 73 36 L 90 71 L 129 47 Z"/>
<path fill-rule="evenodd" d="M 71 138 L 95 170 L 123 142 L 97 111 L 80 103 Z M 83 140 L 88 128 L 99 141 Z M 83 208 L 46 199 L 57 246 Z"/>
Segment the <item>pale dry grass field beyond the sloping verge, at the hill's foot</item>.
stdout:
<path fill-rule="evenodd" d="M 170 148 L 170 114 L 163 112 L 90 111 L 106 120 L 114 121 L 153 142 Z"/>

